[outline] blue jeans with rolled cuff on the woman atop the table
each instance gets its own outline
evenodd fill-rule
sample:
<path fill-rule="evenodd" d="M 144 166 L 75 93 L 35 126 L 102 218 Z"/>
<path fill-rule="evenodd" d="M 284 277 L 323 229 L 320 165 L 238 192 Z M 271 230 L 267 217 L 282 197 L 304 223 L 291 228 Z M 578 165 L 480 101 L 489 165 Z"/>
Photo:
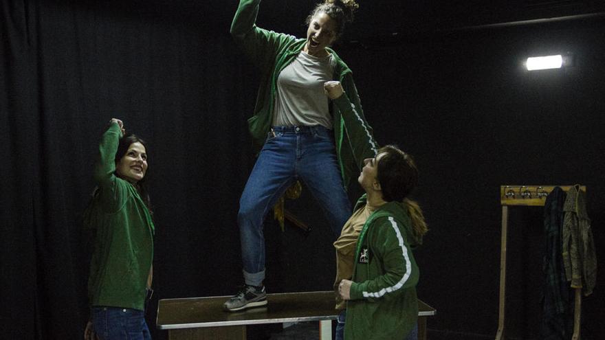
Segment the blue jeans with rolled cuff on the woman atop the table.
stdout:
<path fill-rule="evenodd" d="M 265 279 L 263 220 L 297 179 L 323 208 L 335 238 L 351 216 L 332 131 L 322 126 L 272 128 L 239 201 L 237 223 L 246 284 L 261 286 Z"/>

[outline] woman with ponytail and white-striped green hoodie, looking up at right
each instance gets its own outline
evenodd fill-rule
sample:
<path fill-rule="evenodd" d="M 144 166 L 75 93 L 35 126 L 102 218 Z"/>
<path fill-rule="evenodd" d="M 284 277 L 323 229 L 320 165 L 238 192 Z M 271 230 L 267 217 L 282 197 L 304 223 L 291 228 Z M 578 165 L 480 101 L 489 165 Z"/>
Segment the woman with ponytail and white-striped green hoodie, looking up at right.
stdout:
<path fill-rule="evenodd" d="M 336 339 L 416 339 L 419 271 L 412 249 L 428 230 L 407 196 L 418 181 L 412 157 L 384 146 L 358 178 L 366 194 L 342 228 L 336 247 Z M 344 310 L 346 303 L 346 310 Z"/>

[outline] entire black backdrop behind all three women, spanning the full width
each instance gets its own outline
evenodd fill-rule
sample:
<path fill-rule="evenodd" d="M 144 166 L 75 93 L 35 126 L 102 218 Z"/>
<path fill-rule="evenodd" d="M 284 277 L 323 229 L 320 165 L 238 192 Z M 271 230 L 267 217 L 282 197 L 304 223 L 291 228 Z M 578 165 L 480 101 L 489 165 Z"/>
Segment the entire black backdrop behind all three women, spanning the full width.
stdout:
<path fill-rule="evenodd" d="M 241 284 L 236 212 L 254 164 L 245 120 L 258 73 L 228 34 L 236 2 L 1 2 L 1 339 L 82 337 L 89 249 L 80 219 L 111 117 L 149 144 L 155 297 L 228 295 Z M 259 25 L 301 36 L 313 3 L 265 0 Z M 438 310 L 430 338 L 493 339 L 499 185 L 586 185 L 604 262 L 605 22 L 392 36 L 397 25 L 373 24 L 369 13 L 395 14 L 362 5 L 344 39 L 355 43 L 336 48 L 377 139 L 415 155 L 421 170 L 415 198 L 431 231 L 415 255 L 419 297 Z M 527 56 L 553 52 L 573 53 L 575 66 L 522 69 Z M 268 218 L 268 289 L 330 289 L 333 237 L 320 207 L 304 189 L 287 207 L 312 231 L 281 232 Z M 538 339 L 542 212 L 511 213 L 507 328 Z M 583 339 L 605 338 L 602 277 L 584 299 Z"/>

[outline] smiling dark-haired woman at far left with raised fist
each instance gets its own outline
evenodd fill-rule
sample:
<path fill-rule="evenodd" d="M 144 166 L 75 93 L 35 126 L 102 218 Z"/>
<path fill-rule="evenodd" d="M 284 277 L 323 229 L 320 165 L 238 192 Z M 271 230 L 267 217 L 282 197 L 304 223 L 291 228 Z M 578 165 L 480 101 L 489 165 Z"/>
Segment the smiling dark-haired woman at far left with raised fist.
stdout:
<path fill-rule="evenodd" d="M 113 118 L 99 145 L 98 187 L 85 212 L 86 227 L 96 233 L 85 339 L 151 339 L 144 315 L 154 231 L 144 185 L 147 152 L 142 139 L 124 133 Z"/>

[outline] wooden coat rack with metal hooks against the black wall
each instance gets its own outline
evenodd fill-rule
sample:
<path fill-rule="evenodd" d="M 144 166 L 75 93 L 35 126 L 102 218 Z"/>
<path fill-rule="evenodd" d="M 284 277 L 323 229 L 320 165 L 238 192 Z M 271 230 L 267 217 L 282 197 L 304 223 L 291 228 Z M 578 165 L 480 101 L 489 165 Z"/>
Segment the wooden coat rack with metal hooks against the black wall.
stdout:
<path fill-rule="evenodd" d="M 502 205 L 502 235 L 500 240 L 500 308 L 498 309 L 498 332 L 496 340 L 505 339 L 505 288 L 506 288 L 506 247 L 508 229 L 508 207 L 543 207 L 546 197 L 555 188 L 559 187 L 565 192 L 573 185 L 501 185 L 500 205 Z M 584 185 L 580 190 L 586 192 Z M 575 304 L 573 310 L 572 340 L 580 339 L 580 314 L 582 307 L 582 288 L 575 288 Z"/>

